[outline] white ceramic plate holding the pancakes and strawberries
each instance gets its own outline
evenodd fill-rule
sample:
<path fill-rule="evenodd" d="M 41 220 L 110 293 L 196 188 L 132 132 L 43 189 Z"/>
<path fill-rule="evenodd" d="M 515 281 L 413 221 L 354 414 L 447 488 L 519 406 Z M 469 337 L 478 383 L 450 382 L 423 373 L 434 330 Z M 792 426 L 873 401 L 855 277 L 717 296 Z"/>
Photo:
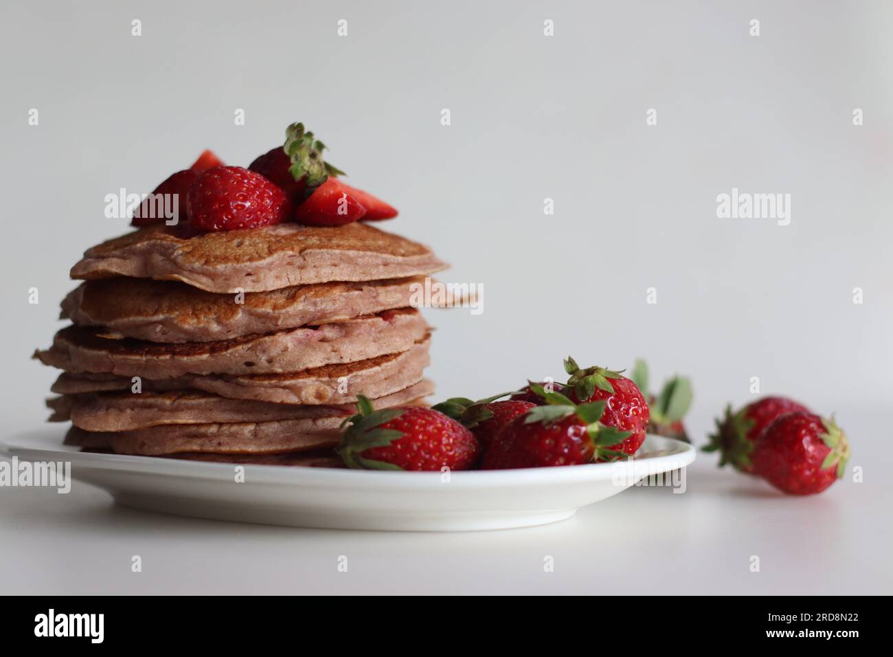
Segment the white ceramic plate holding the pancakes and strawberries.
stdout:
<path fill-rule="evenodd" d="M 71 476 L 119 504 L 196 518 L 332 529 L 466 531 L 543 525 L 695 460 L 691 445 L 649 435 L 635 459 L 518 470 L 393 472 L 235 466 L 94 454 L 62 445 L 63 431 L 14 436 L 0 452 L 19 461 L 69 461 Z M 669 477 L 667 477 L 669 479 Z M 669 482 L 666 482 L 669 484 Z M 77 485 L 77 484 L 74 484 Z"/>

